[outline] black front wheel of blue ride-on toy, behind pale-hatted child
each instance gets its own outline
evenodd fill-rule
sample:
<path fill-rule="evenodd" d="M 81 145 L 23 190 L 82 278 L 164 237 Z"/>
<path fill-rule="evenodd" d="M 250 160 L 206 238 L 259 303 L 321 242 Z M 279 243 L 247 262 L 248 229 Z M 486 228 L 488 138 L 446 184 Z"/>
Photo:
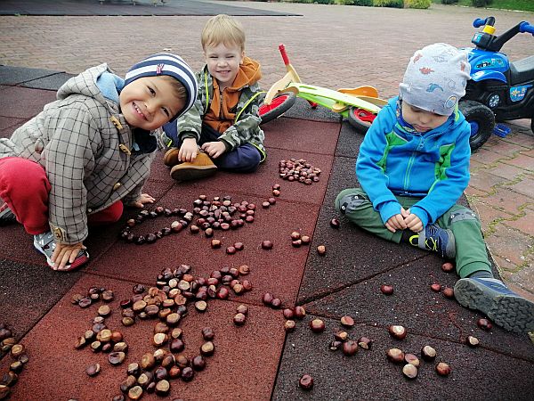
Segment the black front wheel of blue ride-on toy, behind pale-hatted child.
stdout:
<path fill-rule="evenodd" d="M 495 114 L 480 102 L 461 101 L 458 107 L 471 126 L 469 144 L 471 151 L 475 151 L 486 143 L 493 133 Z"/>

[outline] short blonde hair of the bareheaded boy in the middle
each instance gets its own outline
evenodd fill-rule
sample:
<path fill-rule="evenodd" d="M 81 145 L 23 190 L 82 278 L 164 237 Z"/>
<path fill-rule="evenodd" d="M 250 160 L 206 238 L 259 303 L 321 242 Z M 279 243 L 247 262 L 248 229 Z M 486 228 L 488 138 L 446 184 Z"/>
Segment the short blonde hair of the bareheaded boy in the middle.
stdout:
<path fill-rule="evenodd" d="M 230 15 L 219 14 L 207 20 L 200 36 L 202 49 L 210 45 L 236 45 L 241 52 L 245 50 L 245 31 L 238 20 Z"/>

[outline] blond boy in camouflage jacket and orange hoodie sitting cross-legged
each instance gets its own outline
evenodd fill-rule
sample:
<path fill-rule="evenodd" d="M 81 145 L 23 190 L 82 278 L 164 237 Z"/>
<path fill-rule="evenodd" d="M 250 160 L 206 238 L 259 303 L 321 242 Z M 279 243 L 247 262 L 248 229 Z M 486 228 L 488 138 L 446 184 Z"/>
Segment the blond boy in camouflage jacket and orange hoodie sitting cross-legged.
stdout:
<path fill-rule="evenodd" d="M 237 20 L 216 15 L 201 36 L 206 66 L 198 73 L 194 107 L 164 127 L 164 163 L 177 181 L 211 176 L 217 168 L 251 173 L 265 159 L 258 115 L 260 64 L 245 56 Z M 200 149 L 198 149 L 200 146 Z"/>

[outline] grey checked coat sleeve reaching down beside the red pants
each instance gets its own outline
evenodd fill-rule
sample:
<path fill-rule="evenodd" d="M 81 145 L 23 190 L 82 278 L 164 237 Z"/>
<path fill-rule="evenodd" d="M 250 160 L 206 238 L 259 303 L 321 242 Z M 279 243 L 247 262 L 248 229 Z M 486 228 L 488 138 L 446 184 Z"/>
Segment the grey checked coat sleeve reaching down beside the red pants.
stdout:
<path fill-rule="evenodd" d="M 100 131 L 85 102 L 55 111 L 46 119 L 49 142 L 41 158 L 52 186 L 49 223 L 57 241 L 71 244 L 87 237 L 84 178 L 93 170 Z"/>

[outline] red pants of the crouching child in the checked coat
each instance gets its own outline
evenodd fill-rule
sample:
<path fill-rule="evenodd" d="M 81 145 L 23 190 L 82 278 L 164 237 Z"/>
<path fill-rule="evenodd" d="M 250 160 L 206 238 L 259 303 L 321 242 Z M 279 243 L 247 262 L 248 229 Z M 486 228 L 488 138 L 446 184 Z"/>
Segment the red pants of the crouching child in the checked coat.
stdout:
<path fill-rule="evenodd" d="M 50 231 L 48 225 L 48 192 L 50 183 L 44 168 L 28 159 L 0 159 L 0 198 L 7 203 L 20 224 L 30 234 Z M 90 225 L 114 223 L 122 215 L 122 201 L 89 215 Z"/>

